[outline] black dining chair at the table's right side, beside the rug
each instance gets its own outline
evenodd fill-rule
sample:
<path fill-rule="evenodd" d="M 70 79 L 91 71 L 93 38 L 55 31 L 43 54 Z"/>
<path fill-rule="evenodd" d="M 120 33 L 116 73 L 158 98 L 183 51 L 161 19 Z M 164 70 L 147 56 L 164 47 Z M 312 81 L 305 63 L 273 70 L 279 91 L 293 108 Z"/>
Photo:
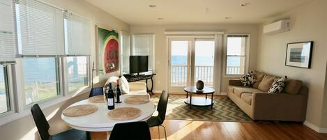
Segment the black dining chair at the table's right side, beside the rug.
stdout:
<path fill-rule="evenodd" d="M 164 122 L 165 117 L 166 117 L 168 96 L 169 95 L 166 91 L 162 91 L 159 102 L 158 102 L 158 107 L 157 107 L 158 116 L 151 116 L 151 118 L 149 118 L 149 120 L 146 120 L 146 123 L 148 123 L 149 127 L 158 126 L 159 137 L 160 137 L 159 126 L 163 127 L 165 130 L 165 139 L 166 140 L 167 140 L 166 127 L 164 125 L 162 125 L 162 123 Z"/>

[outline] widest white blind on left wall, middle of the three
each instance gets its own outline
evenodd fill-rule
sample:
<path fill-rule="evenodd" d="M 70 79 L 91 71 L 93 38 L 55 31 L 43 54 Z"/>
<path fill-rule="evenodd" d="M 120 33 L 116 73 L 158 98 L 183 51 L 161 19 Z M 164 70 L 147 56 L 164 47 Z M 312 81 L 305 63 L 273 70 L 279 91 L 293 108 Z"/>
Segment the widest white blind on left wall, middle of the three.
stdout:
<path fill-rule="evenodd" d="M 64 54 L 62 10 L 36 0 L 19 0 L 15 8 L 20 54 Z"/>

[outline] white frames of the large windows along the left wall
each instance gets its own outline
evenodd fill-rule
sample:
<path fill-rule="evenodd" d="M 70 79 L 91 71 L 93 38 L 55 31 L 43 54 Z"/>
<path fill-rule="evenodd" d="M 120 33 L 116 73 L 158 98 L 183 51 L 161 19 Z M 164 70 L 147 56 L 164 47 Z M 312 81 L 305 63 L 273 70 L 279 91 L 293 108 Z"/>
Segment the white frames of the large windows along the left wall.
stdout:
<path fill-rule="evenodd" d="M 37 0 L 36 0 L 37 1 Z M 41 3 L 45 3 L 44 1 L 39 1 Z M 18 33 L 17 30 L 17 22 L 20 22 L 17 20 L 17 2 L 13 2 L 13 20 L 14 20 L 14 31 L 15 31 L 15 43 L 18 46 L 20 45 L 21 40 L 21 35 Z M 59 8 L 57 6 L 54 6 L 49 3 L 45 3 L 48 6 L 52 6 L 54 8 Z M 64 11 L 63 8 L 59 8 L 60 10 Z M 74 13 L 75 14 L 75 13 Z M 90 20 L 91 21 L 91 20 Z M 64 22 L 62 22 L 64 24 Z M 92 24 L 92 22 L 91 22 Z M 90 26 L 91 27 L 91 26 Z M 92 32 L 89 31 L 90 35 L 92 36 Z M 64 36 L 64 34 L 63 34 Z M 63 40 L 63 45 L 64 40 Z M 63 46 L 65 47 L 65 46 Z M 90 46 L 91 47 L 91 46 Z M 8 79 L 8 94 L 9 94 L 9 100 L 10 100 L 10 111 L 4 112 L 3 114 L 0 114 L 0 126 L 5 125 L 7 123 L 10 123 L 14 120 L 20 119 L 24 116 L 29 116 L 31 115 L 30 107 L 33 104 L 38 103 L 41 107 L 41 109 L 47 109 L 49 107 L 54 107 L 57 104 L 61 104 L 62 102 L 65 102 L 67 100 L 70 100 L 71 98 L 75 97 L 76 95 L 81 95 L 84 93 L 89 93 L 91 91 L 91 55 L 86 55 L 88 57 L 87 62 L 88 62 L 88 83 L 89 87 L 86 88 L 81 88 L 79 91 L 77 91 L 75 94 L 68 94 L 64 89 L 66 80 L 65 78 L 65 65 L 63 63 L 63 59 L 65 58 L 65 55 L 63 56 L 33 56 L 33 55 L 22 55 L 22 49 L 17 49 L 17 57 L 15 59 L 16 63 L 7 63 L 6 65 L 6 74 L 7 74 L 7 79 Z M 25 96 L 24 96 L 24 75 L 23 75 L 23 65 L 22 65 L 22 59 L 26 57 L 54 57 L 56 58 L 56 77 L 59 77 L 57 80 L 59 83 L 60 90 L 58 91 L 59 95 L 56 95 L 55 97 L 48 98 L 47 100 L 40 100 L 38 102 L 33 102 L 31 104 L 26 104 L 25 102 Z M 58 89 L 57 89 L 58 90 Z"/>

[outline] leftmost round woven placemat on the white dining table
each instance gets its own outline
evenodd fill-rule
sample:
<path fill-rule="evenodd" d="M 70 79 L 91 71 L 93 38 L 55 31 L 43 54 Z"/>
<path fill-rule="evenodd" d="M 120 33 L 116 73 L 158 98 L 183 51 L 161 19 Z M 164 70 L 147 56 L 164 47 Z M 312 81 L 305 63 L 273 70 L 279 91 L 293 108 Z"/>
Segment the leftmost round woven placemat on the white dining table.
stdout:
<path fill-rule="evenodd" d="M 98 110 L 98 107 L 93 104 L 82 104 L 73 107 L 68 107 L 63 110 L 64 116 L 77 117 L 77 116 L 86 116 L 92 114 Z"/>

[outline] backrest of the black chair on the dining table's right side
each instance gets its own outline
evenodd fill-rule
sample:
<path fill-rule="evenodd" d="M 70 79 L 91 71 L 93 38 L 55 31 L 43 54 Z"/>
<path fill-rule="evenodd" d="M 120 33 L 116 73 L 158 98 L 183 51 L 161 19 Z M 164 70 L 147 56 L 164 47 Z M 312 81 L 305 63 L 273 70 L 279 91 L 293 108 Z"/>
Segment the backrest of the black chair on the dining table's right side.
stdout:
<path fill-rule="evenodd" d="M 162 91 L 162 93 L 160 95 L 159 102 L 158 102 L 157 111 L 158 111 L 158 117 L 162 121 L 161 123 L 163 123 L 163 121 L 166 118 L 166 111 L 167 111 L 167 104 L 168 104 L 168 96 L 169 95 L 168 95 L 168 93 L 166 91 Z"/>

